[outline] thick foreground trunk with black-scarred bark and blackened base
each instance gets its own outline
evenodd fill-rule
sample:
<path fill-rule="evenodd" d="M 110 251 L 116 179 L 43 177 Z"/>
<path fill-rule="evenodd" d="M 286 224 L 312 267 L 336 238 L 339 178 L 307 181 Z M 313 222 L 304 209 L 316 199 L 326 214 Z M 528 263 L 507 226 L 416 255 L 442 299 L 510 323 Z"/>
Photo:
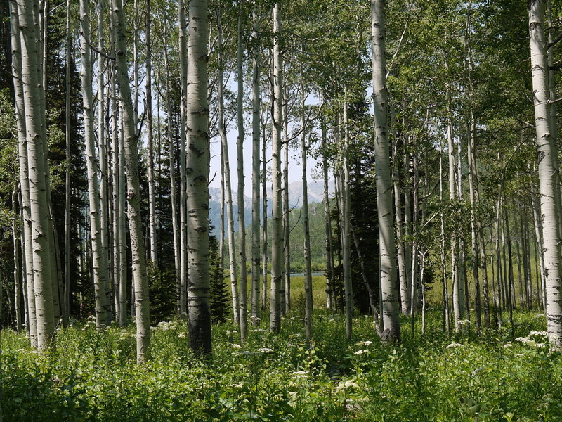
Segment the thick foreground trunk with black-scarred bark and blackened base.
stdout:
<path fill-rule="evenodd" d="M 209 103 L 207 102 L 207 0 L 189 3 L 187 93 L 188 312 L 190 346 L 211 353 L 209 310 Z"/>

